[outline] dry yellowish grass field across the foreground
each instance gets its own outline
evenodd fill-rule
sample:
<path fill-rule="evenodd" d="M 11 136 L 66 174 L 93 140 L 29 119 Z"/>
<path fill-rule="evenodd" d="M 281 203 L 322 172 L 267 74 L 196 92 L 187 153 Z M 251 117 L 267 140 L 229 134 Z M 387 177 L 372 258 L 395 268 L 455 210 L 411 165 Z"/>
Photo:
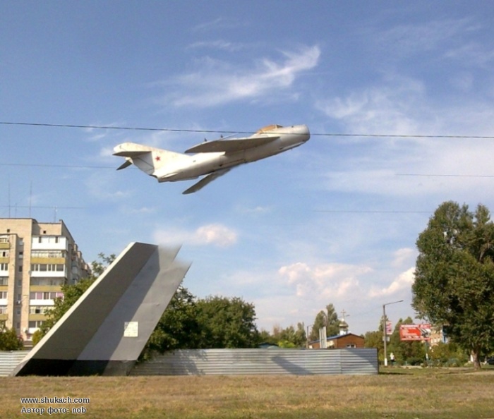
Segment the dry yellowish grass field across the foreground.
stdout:
<path fill-rule="evenodd" d="M 21 397 L 90 401 L 35 404 Z M 50 407 L 69 413 L 49 415 Z M 33 416 L 494 418 L 494 369 L 389 368 L 374 376 L 1 377 L 0 417 Z"/>

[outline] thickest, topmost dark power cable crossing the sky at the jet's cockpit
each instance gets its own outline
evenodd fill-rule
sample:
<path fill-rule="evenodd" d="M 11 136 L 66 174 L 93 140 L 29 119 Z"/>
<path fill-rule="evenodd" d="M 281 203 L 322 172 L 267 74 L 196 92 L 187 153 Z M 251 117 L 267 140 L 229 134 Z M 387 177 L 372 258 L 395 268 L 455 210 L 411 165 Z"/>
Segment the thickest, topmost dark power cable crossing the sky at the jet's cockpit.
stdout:
<path fill-rule="evenodd" d="M 231 131 L 231 130 L 205 130 L 185 128 L 145 128 L 129 126 L 97 126 L 97 125 L 73 125 L 61 123 L 33 123 L 33 122 L 8 122 L 0 121 L 1 125 L 15 126 L 43 126 L 52 128 L 90 128 L 104 130 L 137 130 L 137 131 L 168 131 L 173 133 L 218 133 L 218 134 L 253 134 L 253 131 Z M 422 135 L 422 134 L 366 134 L 366 133 L 311 133 L 319 137 L 367 137 L 367 138 L 460 138 L 494 140 L 494 135 Z"/>

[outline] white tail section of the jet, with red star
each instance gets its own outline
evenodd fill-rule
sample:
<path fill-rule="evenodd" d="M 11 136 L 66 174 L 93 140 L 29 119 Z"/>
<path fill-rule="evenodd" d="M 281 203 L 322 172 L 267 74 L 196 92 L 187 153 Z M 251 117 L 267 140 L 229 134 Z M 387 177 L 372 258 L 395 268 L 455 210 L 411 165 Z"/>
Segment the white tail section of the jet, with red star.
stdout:
<path fill-rule="evenodd" d="M 113 155 L 125 157 L 126 160 L 117 170 L 125 169 L 131 164 L 134 164 L 150 176 L 158 169 L 161 169 L 165 164 L 190 159 L 186 154 L 136 144 L 135 142 L 123 142 L 122 144 L 117 145 L 114 147 Z"/>

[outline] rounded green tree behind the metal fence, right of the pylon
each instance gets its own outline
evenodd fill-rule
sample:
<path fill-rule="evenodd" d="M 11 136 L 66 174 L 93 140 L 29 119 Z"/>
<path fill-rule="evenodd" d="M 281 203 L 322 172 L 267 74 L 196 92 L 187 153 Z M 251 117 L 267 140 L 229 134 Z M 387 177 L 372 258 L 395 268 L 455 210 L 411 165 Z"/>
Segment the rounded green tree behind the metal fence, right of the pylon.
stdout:
<path fill-rule="evenodd" d="M 208 297 L 198 300 L 198 322 L 203 348 L 255 348 L 259 332 L 255 308 L 241 298 Z"/>

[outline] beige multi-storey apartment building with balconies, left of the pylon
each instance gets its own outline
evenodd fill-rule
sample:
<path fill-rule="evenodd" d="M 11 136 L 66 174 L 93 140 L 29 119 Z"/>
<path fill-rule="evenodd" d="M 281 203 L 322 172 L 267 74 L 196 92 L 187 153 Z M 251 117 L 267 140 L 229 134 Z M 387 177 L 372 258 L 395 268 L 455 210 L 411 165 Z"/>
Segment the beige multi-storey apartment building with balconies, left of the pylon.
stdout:
<path fill-rule="evenodd" d="M 0 219 L 0 322 L 29 346 L 61 286 L 90 275 L 64 221 Z"/>

